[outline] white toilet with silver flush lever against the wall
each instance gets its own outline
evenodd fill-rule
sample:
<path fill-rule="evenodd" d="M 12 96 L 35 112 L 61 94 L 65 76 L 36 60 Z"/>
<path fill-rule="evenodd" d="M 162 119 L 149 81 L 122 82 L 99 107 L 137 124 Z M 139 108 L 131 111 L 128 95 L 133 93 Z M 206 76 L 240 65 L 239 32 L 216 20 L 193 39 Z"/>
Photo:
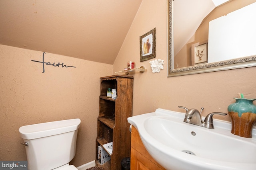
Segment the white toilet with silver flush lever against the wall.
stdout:
<path fill-rule="evenodd" d="M 80 123 L 80 119 L 70 119 L 20 127 L 28 170 L 77 170 L 68 163 L 76 154 Z"/>

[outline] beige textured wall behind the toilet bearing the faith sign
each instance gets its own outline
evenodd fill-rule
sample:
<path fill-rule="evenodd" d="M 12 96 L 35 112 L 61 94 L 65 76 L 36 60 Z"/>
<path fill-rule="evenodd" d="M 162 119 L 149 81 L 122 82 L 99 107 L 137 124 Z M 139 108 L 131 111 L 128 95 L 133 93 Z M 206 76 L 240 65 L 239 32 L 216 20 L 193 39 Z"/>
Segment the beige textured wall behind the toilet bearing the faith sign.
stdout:
<path fill-rule="evenodd" d="M 100 77 L 113 65 L 0 45 L 0 160 L 26 160 L 19 127 L 80 118 L 76 156 L 80 166 L 95 159 Z"/>

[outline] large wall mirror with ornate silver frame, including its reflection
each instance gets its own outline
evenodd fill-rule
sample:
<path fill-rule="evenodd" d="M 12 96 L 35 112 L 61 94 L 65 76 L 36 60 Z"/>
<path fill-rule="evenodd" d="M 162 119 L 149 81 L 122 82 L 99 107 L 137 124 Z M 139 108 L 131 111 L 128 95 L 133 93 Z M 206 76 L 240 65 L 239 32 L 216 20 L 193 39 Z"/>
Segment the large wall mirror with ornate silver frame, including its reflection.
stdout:
<path fill-rule="evenodd" d="M 256 0 L 213 1 L 168 0 L 168 76 L 256 66 Z"/>

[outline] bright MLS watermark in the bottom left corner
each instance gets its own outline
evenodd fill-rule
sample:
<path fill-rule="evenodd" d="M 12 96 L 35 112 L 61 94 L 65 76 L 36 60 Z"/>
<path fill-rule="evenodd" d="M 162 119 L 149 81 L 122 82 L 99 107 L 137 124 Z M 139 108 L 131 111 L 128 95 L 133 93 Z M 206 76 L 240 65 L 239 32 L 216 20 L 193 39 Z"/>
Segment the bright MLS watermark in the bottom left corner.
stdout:
<path fill-rule="evenodd" d="M 28 170 L 28 161 L 0 161 L 0 170 Z"/>

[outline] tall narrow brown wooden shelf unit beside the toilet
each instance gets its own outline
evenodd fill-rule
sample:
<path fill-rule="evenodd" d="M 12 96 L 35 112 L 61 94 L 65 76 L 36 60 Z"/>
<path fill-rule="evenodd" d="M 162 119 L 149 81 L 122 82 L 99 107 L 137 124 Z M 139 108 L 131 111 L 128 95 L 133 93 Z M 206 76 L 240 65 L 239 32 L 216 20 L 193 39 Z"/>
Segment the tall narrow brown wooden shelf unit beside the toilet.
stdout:
<path fill-rule="evenodd" d="M 130 157 L 131 133 L 128 117 L 132 116 L 133 76 L 114 75 L 100 78 L 100 102 L 96 139 L 96 164 L 105 170 L 121 170 L 121 160 Z M 108 88 L 116 89 L 116 99 L 107 98 Z M 111 159 L 98 162 L 98 146 L 113 142 Z"/>

